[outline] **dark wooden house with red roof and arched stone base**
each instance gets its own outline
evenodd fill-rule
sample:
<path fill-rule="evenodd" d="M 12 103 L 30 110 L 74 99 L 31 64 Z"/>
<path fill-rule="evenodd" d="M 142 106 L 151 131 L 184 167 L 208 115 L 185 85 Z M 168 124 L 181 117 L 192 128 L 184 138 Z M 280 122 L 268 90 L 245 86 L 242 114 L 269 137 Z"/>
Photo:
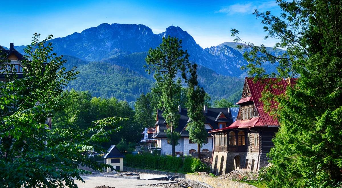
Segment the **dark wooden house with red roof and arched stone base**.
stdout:
<path fill-rule="evenodd" d="M 246 78 L 242 96 L 238 104 L 237 120 L 231 125 L 211 130 L 214 137 L 211 169 L 216 174 L 225 174 L 235 169 L 257 171 L 268 164 L 266 154 L 273 147 L 272 138 L 279 129 L 279 122 L 264 111 L 260 101 L 261 92 L 267 83 L 267 89 L 279 95 L 285 92 L 288 85 L 295 84 L 295 79 Z M 276 104 L 271 105 L 276 108 Z"/>

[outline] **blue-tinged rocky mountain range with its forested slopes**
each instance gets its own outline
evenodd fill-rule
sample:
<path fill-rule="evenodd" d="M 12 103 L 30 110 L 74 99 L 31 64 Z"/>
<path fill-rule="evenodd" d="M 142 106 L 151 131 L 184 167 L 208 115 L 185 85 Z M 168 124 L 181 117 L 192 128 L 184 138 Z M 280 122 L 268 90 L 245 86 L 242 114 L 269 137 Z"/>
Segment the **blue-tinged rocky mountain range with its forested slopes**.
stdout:
<path fill-rule="evenodd" d="M 72 81 L 67 89 L 90 90 L 94 96 L 115 96 L 134 102 L 140 93 L 150 91 L 154 79 L 147 75 L 143 65 L 147 51 L 156 48 L 162 37 L 177 37 L 187 50 L 189 60 L 199 65 L 199 83 L 212 99 L 231 98 L 242 90 L 243 77 L 247 74 L 240 68 L 248 65 L 234 42 L 224 42 L 203 49 L 188 32 L 180 27 L 170 26 L 165 32 L 155 34 L 149 27 L 139 24 L 101 24 L 75 32 L 71 35 L 50 40 L 54 52 L 65 55 L 67 66 L 77 66 L 78 79 Z M 15 46 L 24 53 L 25 46 Z M 283 50 L 269 51 L 275 54 Z M 268 66 L 268 71 L 275 71 Z M 239 94 L 240 95 L 240 94 Z"/>

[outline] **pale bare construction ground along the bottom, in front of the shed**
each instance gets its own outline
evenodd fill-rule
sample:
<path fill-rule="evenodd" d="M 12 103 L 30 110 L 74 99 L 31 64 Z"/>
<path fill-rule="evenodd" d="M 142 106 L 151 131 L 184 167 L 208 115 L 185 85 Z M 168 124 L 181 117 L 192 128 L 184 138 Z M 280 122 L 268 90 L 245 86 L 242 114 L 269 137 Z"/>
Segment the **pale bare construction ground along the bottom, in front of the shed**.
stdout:
<path fill-rule="evenodd" d="M 75 183 L 79 188 L 95 188 L 95 187 L 115 187 L 115 188 L 144 188 L 144 187 L 170 187 L 170 188 L 202 188 L 207 187 L 199 182 L 174 178 L 173 180 L 150 180 L 150 179 L 128 179 L 117 177 L 104 177 L 109 173 L 96 173 L 86 176 L 81 176 L 86 183 L 76 181 Z M 141 173 L 144 177 L 153 177 L 155 175 Z M 143 177 L 142 176 L 142 177 Z"/>

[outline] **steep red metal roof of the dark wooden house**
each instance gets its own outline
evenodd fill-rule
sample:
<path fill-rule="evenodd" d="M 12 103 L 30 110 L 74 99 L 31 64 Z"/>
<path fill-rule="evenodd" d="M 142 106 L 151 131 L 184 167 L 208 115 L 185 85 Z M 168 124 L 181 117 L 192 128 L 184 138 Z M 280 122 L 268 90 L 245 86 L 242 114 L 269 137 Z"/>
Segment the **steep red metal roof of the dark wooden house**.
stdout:
<path fill-rule="evenodd" d="M 288 85 L 295 84 L 297 79 L 296 78 L 286 79 L 286 80 L 281 79 L 279 82 L 276 82 L 277 78 L 258 79 L 256 82 L 254 82 L 253 79 L 254 78 L 248 78 L 248 77 L 246 77 L 245 79 L 245 86 L 247 84 L 250 90 L 251 96 L 241 98 L 239 102 L 236 104 L 253 101 L 254 107 L 257 110 L 259 117 L 253 117 L 249 120 L 236 120 L 229 127 L 225 127 L 220 130 L 214 130 L 211 132 L 234 129 L 238 127 L 242 128 L 242 127 L 257 127 L 257 126 L 279 126 L 279 122 L 264 111 L 263 103 L 260 101 L 261 93 L 264 91 L 264 88 L 268 83 L 272 83 L 271 88 L 268 88 L 267 90 L 271 91 L 275 95 L 280 95 L 282 93 L 285 93 L 286 87 Z M 276 107 L 277 105 L 275 104 L 275 102 L 272 102 L 271 108 L 276 108 Z"/>

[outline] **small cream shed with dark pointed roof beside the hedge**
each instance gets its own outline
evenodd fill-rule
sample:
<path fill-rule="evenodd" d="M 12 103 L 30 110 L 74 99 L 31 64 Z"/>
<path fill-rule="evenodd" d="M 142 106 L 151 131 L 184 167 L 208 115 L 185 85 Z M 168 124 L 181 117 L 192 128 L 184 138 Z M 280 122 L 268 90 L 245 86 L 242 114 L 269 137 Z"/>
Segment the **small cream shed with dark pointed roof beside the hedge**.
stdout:
<path fill-rule="evenodd" d="M 107 168 L 107 172 L 112 172 L 113 170 L 123 171 L 123 158 L 125 156 L 119 151 L 119 149 L 112 145 L 107 150 L 106 155 L 103 156 L 106 164 L 110 164 L 112 167 Z"/>

